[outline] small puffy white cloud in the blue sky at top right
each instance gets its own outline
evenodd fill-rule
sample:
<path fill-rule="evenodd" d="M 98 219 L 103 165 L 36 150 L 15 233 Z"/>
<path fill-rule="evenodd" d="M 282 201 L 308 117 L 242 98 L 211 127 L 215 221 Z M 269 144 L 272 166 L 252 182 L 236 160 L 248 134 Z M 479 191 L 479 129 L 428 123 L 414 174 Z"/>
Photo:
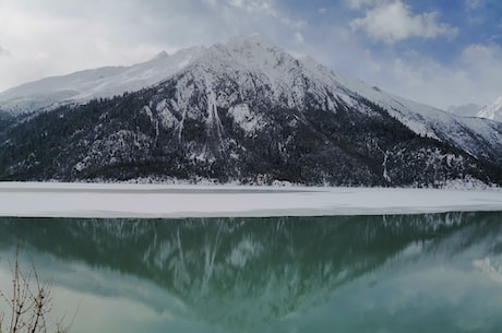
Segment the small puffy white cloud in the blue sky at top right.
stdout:
<path fill-rule="evenodd" d="M 352 5 L 361 1 L 352 0 Z M 366 1 L 367 3 L 369 1 Z M 429 12 L 413 15 L 410 8 L 401 0 L 378 1 L 366 17 L 350 22 L 352 29 L 362 29 L 375 41 L 394 44 L 410 37 L 433 38 L 438 36 L 454 36 L 457 29 L 443 23 L 438 23 L 438 13 Z M 356 8 L 356 7 L 352 7 Z"/>

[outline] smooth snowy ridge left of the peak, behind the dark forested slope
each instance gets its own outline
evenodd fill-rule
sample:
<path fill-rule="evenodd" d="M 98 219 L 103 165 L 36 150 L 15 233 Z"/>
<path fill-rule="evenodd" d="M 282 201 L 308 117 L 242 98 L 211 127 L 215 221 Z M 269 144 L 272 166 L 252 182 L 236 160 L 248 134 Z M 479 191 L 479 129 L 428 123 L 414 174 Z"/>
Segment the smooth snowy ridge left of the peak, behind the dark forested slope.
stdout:
<path fill-rule="evenodd" d="M 203 47 L 183 49 L 171 56 L 163 51 L 150 61 L 131 67 L 105 67 L 26 83 L 0 93 L 0 110 L 24 114 L 136 92 L 169 78 L 203 51 Z"/>

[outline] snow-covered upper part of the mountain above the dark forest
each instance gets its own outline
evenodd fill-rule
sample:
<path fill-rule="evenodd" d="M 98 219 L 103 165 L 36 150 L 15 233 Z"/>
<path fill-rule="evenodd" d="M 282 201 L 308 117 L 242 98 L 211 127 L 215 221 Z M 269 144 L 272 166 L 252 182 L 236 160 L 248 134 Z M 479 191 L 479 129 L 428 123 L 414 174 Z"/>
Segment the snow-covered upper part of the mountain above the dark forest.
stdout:
<path fill-rule="evenodd" d="M 389 94 L 363 81 L 335 74 L 311 57 L 294 57 L 261 35 L 238 37 L 225 45 L 215 44 L 208 48 L 201 46 L 182 49 L 174 55 L 160 52 L 148 61 L 131 67 L 105 67 L 26 83 L 0 93 L 0 110 L 22 114 L 61 104 L 85 103 L 97 97 L 112 97 L 152 86 L 188 69 L 194 71 L 201 80 L 206 80 L 208 73 L 214 72 L 227 72 L 238 79 L 253 73 L 258 82 L 273 88 L 273 95 L 264 98 L 282 100 L 285 106 L 296 108 L 304 106 L 303 90 L 308 81 L 311 84 L 308 92 L 319 100 L 327 100 L 327 108 L 334 109 L 337 100 L 358 106 L 359 97 L 363 97 L 385 108 L 417 134 L 454 144 L 471 144 L 471 138 L 456 135 L 456 132 L 465 128 L 474 128 L 485 136 L 490 131 L 488 128 L 493 127 L 485 119 L 455 116 Z M 301 73 L 307 76 L 302 78 Z M 242 80 L 237 82 L 242 90 L 255 84 Z M 205 83 L 208 87 L 214 84 L 210 81 Z M 225 106 L 222 99 L 217 104 Z M 500 103 L 487 106 L 478 116 L 498 120 L 497 112 L 500 114 Z M 502 138 L 494 139 L 502 142 Z"/>

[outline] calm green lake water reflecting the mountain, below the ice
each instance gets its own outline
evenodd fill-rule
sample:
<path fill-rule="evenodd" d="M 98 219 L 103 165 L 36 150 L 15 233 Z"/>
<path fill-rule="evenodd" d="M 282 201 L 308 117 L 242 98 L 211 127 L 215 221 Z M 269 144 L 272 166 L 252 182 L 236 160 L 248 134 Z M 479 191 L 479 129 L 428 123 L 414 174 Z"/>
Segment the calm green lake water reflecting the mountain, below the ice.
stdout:
<path fill-rule="evenodd" d="M 502 213 L 0 219 L 80 332 L 502 332 Z"/>

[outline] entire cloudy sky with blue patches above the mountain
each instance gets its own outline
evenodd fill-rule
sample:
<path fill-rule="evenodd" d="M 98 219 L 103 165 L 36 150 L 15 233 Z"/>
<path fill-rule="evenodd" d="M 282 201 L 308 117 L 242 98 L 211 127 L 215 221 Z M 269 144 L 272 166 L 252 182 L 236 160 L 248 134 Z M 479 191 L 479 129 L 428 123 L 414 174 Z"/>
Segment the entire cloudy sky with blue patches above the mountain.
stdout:
<path fill-rule="evenodd" d="M 502 96 L 500 0 L 0 0 L 0 91 L 254 33 L 440 108 Z"/>

